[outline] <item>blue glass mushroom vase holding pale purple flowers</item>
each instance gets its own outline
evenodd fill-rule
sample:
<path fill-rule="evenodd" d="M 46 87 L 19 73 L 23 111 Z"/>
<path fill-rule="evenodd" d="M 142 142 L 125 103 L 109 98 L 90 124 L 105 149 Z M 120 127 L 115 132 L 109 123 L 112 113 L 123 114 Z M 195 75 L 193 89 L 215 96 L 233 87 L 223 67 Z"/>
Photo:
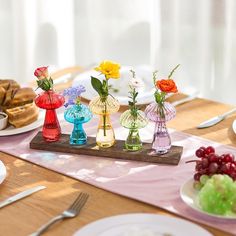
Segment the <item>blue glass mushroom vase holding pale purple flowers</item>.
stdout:
<path fill-rule="evenodd" d="M 74 129 L 70 135 L 71 145 L 83 145 L 87 142 L 87 135 L 83 128 L 83 123 L 92 118 L 92 112 L 84 104 L 75 104 L 66 109 L 64 118 L 66 121 L 74 124 Z"/>

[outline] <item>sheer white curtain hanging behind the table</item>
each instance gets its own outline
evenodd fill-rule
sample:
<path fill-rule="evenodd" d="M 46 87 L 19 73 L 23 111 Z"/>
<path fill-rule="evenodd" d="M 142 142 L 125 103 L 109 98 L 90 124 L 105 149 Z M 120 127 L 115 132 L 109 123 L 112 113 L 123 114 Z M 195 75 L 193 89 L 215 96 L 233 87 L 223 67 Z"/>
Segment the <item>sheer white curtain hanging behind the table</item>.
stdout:
<path fill-rule="evenodd" d="M 234 0 L 0 0 L 0 77 L 33 79 L 36 67 L 103 59 L 151 65 L 160 76 L 180 63 L 180 90 L 236 101 Z"/>

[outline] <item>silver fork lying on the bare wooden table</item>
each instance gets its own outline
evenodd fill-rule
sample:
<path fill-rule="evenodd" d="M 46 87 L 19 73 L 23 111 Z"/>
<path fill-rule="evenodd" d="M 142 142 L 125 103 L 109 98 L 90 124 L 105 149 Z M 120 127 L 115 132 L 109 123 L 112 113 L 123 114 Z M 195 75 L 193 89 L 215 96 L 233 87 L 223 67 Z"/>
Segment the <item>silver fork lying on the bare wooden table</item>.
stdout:
<path fill-rule="evenodd" d="M 88 200 L 88 197 L 89 195 L 87 193 L 80 193 L 79 196 L 75 199 L 75 201 L 67 210 L 63 211 L 60 215 L 52 218 L 50 221 L 48 221 L 48 223 L 41 226 L 36 232 L 32 233 L 30 236 L 39 236 L 42 233 L 44 233 L 55 222 L 77 216 L 80 210 L 83 208 L 86 201 Z"/>

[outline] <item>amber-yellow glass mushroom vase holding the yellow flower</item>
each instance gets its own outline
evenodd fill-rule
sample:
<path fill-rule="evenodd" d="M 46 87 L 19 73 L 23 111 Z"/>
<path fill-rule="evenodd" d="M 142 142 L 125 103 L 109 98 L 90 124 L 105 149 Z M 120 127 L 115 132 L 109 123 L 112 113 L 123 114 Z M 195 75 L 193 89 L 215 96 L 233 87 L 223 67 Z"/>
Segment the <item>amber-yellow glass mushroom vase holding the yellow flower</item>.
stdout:
<path fill-rule="evenodd" d="M 117 112 L 120 108 L 119 102 L 108 95 L 106 99 L 95 97 L 89 103 L 90 110 L 100 116 L 96 143 L 99 147 L 109 148 L 115 143 L 115 133 L 110 121 L 110 114 Z"/>

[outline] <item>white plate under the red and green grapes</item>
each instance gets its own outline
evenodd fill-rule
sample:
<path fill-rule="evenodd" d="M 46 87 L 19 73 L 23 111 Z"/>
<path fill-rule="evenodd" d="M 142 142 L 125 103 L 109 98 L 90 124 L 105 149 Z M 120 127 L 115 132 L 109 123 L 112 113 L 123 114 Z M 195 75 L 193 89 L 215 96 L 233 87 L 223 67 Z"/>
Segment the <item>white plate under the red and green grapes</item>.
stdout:
<path fill-rule="evenodd" d="M 221 219 L 236 219 L 236 215 L 235 216 L 223 216 L 223 215 L 215 215 L 215 214 L 211 214 L 206 211 L 203 211 L 198 204 L 198 201 L 197 201 L 198 191 L 196 189 L 194 189 L 193 183 L 194 183 L 194 180 L 190 179 L 187 182 L 185 182 L 180 189 L 180 196 L 181 196 L 182 200 L 188 206 L 190 206 L 194 210 L 197 210 L 198 212 L 201 212 L 205 215 L 209 215 L 212 217 L 221 218 Z"/>

